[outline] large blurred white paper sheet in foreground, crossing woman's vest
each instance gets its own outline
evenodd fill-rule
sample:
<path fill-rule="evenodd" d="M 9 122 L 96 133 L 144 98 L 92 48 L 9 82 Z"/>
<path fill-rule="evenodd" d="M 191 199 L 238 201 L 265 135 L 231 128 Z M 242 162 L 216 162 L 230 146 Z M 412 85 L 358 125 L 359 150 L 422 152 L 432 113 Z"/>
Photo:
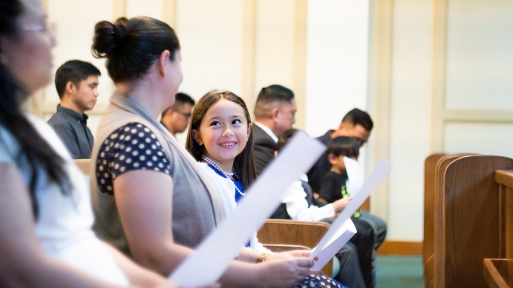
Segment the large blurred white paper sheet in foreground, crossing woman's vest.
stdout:
<path fill-rule="evenodd" d="M 181 287 L 212 284 L 221 277 L 241 250 L 281 203 L 294 180 L 321 156 L 325 147 L 298 131 L 280 156 L 274 159 L 248 189 L 238 208 L 189 256 L 169 279 Z M 200 273 L 199 273 L 200 272 Z"/>

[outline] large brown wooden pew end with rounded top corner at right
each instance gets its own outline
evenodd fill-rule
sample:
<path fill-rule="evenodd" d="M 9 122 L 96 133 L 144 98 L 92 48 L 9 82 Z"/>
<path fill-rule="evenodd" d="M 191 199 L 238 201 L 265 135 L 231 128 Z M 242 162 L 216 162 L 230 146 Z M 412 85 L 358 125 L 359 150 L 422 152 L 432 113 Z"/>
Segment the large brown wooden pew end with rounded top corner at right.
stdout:
<path fill-rule="evenodd" d="M 435 196 L 434 287 L 484 287 L 483 258 L 500 252 L 499 183 L 495 171 L 513 159 L 471 155 L 445 169 Z"/>

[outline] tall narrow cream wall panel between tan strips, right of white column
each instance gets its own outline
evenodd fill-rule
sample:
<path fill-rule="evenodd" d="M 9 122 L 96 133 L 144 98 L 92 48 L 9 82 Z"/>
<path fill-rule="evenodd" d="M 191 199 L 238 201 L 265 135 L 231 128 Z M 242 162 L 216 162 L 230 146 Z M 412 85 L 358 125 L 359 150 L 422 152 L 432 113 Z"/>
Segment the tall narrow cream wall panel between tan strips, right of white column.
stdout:
<path fill-rule="evenodd" d="M 423 238 L 424 159 L 430 152 L 430 0 L 396 0 L 392 30 L 389 240 Z"/>

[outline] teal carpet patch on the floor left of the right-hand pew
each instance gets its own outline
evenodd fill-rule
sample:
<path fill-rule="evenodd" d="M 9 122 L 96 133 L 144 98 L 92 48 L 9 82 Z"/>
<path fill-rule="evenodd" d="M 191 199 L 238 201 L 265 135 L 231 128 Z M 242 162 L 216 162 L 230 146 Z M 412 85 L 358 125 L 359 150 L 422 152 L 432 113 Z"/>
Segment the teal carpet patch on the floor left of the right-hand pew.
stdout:
<path fill-rule="evenodd" d="M 423 288 L 424 275 L 420 256 L 378 256 L 376 288 Z"/>

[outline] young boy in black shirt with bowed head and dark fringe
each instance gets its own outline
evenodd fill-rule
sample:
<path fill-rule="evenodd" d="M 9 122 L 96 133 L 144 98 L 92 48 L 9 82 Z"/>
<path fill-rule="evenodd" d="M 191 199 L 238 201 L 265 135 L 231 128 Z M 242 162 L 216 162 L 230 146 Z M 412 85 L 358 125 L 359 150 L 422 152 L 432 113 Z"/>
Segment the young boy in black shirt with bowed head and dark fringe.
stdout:
<path fill-rule="evenodd" d="M 327 154 L 331 163 L 331 171 L 322 180 L 319 198 L 321 201 L 331 203 L 341 198 L 350 197 L 346 185 L 347 173 L 344 156 L 354 160 L 358 159 L 358 142 L 350 137 L 335 137 L 328 143 Z M 360 210 L 357 210 L 351 217 L 357 233 L 349 241 L 356 245 L 365 285 L 373 287 L 372 249 L 374 247 L 374 232 L 367 222 L 359 218 Z"/>

